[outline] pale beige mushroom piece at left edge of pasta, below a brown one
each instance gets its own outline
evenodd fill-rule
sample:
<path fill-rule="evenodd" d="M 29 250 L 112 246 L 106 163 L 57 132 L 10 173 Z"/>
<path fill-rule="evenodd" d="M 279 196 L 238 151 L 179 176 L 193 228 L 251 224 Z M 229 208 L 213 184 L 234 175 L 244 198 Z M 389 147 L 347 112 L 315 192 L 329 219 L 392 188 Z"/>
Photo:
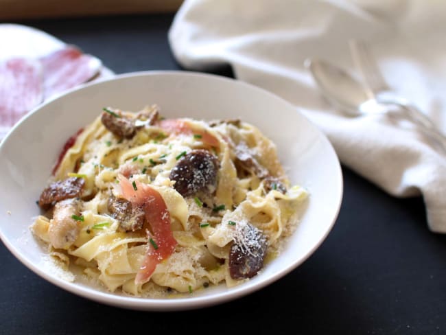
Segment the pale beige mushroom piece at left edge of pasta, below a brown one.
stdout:
<path fill-rule="evenodd" d="M 79 216 L 80 200 L 65 199 L 54 205 L 53 219 L 49 223 L 48 237 L 56 249 L 69 249 L 79 236 L 79 221 L 73 216 Z"/>

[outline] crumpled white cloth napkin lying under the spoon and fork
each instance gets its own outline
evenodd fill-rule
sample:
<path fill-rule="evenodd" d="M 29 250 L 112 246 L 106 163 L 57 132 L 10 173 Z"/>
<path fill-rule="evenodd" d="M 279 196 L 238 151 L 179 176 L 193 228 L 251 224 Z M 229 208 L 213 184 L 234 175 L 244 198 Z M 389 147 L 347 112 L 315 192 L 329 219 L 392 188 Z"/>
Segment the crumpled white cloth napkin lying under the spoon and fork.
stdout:
<path fill-rule="evenodd" d="M 388 117 L 345 117 L 322 99 L 310 56 L 353 68 L 348 41 L 371 45 L 392 88 L 446 131 L 446 1 L 187 0 L 169 31 L 183 67 L 232 65 L 312 120 L 340 161 L 394 196 L 422 195 L 428 227 L 446 233 L 446 158 Z M 277 115 L 272 115 L 277 117 Z"/>

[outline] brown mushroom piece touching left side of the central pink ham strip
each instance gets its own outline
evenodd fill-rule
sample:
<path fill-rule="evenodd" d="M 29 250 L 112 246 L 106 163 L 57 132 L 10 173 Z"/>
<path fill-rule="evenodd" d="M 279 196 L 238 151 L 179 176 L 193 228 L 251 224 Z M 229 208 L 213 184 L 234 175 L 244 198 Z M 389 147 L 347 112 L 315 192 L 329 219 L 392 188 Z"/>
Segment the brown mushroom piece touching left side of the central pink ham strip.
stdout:
<path fill-rule="evenodd" d="M 119 231 L 137 231 L 143 227 L 144 211 L 133 207 L 130 201 L 112 195 L 107 207 L 112 217 L 119 221 Z"/>

